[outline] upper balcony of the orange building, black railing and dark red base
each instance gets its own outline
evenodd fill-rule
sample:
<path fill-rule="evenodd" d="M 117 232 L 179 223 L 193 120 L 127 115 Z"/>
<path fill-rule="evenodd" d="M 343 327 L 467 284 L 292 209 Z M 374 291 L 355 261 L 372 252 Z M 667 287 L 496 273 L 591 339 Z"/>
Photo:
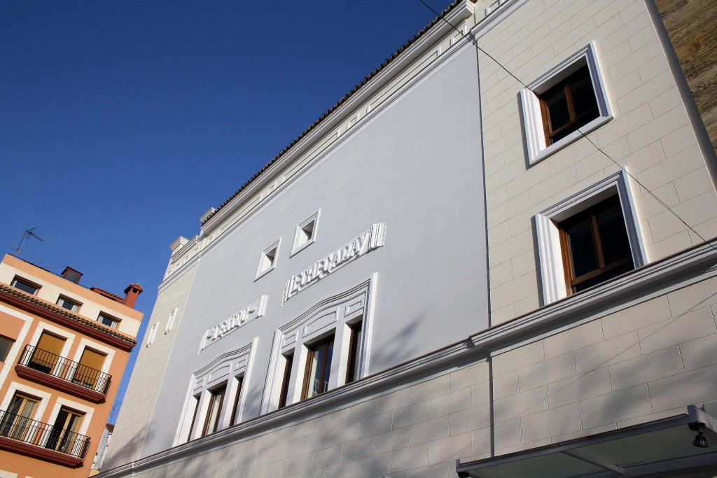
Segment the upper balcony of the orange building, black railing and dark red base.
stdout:
<path fill-rule="evenodd" d="M 25 346 L 15 371 L 22 378 L 44 383 L 94 403 L 105 401 L 112 378 L 108 373 L 32 345 Z"/>

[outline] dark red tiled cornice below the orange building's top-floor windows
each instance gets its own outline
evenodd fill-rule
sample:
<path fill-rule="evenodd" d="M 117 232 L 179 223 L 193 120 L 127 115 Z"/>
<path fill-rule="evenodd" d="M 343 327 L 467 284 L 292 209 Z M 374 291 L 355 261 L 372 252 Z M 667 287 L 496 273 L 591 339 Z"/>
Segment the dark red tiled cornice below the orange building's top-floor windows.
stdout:
<path fill-rule="evenodd" d="M 9 287 L 4 284 L 0 284 L 0 301 L 6 302 L 15 307 L 19 307 L 26 312 L 39 315 L 53 322 L 57 322 L 60 325 L 64 325 L 67 328 L 75 330 L 80 333 L 84 333 L 92 338 L 101 340 L 104 343 L 113 345 L 113 347 L 119 348 L 129 352 L 132 348 L 137 345 L 137 341 L 126 335 L 122 335 L 115 330 L 112 330 L 100 322 L 94 322 L 87 320 L 80 315 L 73 314 L 69 310 L 57 307 L 55 305 L 44 302 L 43 300 L 34 297 L 34 295 L 26 294 L 16 290 L 14 287 Z"/>

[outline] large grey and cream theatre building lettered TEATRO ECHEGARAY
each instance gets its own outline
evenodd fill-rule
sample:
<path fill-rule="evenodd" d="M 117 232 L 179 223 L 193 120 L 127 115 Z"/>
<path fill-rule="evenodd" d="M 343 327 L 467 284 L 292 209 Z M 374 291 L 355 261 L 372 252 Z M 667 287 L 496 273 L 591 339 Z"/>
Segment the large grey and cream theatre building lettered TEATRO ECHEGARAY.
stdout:
<path fill-rule="evenodd" d="M 101 476 L 713 477 L 685 84 L 652 0 L 452 4 L 171 245 Z"/>

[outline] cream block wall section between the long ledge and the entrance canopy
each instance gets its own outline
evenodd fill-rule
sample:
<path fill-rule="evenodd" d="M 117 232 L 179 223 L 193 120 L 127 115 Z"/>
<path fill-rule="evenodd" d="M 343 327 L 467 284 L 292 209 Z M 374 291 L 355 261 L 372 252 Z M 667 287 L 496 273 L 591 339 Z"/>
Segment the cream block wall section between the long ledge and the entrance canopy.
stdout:
<path fill-rule="evenodd" d="M 496 452 L 716 400 L 716 290 L 708 279 L 495 356 Z"/>

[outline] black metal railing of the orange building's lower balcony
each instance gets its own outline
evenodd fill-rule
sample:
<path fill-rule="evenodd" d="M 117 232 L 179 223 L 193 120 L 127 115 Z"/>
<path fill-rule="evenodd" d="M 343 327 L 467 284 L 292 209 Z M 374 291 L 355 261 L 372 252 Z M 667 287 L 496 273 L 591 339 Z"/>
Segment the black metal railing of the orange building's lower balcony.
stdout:
<path fill-rule="evenodd" d="M 0 436 L 85 459 L 90 437 L 0 410 Z"/>

